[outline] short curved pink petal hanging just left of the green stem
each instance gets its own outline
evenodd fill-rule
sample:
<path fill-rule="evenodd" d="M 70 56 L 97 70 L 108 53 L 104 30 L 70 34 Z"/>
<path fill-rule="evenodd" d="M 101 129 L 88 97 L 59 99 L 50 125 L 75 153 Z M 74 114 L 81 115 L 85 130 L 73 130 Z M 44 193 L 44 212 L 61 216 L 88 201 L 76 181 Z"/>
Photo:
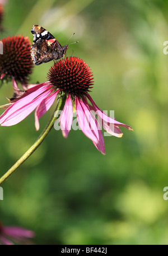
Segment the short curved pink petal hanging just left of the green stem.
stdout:
<path fill-rule="evenodd" d="M 55 97 L 57 96 L 59 91 L 52 92 L 52 94 L 48 95 L 43 101 L 41 101 L 38 108 L 35 110 L 35 128 L 36 131 L 39 130 L 40 124 L 39 119 L 42 117 L 42 115 L 45 114 L 46 111 L 49 110 L 50 106 L 53 105 Z"/>

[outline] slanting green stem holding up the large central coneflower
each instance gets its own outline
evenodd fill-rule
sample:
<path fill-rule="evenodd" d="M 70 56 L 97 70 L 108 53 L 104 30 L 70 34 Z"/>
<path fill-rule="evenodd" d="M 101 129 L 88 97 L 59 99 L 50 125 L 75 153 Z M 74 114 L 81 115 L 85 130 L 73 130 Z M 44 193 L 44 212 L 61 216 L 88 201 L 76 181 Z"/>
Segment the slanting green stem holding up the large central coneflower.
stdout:
<path fill-rule="evenodd" d="M 58 100 L 58 104 L 57 107 L 52 115 L 52 117 L 50 118 L 48 124 L 46 125 L 46 127 L 44 128 L 43 132 L 40 134 L 39 138 L 35 141 L 35 143 L 29 148 L 29 150 L 26 151 L 26 153 L 24 153 L 24 155 L 15 163 L 15 165 L 13 165 L 10 170 L 7 171 L 6 174 L 4 174 L 1 179 L 0 179 L 0 185 L 3 183 L 4 180 L 6 180 L 12 173 L 14 173 L 14 171 L 16 171 L 16 169 L 23 163 L 26 161 L 26 159 L 29 158 L 29 156 L 32 155 L 32 153 L 40 146 L 40 144 L 44 141 L 45 137 L 48 135 L 48 133 L 50 132 L 50 130 L 53 128 L 54 126 L 54 122 L 55 120 L 58 119 L 58 111 L 59 110 L 63 110 L 64 104 L 66 101 L 66 96 L 60 96 L 59 100 Z"/>

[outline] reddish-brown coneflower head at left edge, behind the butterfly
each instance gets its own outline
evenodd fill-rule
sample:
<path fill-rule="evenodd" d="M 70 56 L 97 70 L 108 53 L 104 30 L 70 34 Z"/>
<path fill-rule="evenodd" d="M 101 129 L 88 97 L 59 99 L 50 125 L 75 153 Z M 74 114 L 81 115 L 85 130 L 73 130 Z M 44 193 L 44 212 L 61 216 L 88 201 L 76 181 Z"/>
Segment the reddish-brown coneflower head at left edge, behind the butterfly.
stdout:
<path fill-rule="evenodd" d="M 17 82 L 26 89 L 32 72 L 31 41 L 27 36 L 17 35 L 2 39 L 1 44 L 3 54 L 0 55 L 0 77 L 10 78 L 15 94 L 20 96 L 22 91 L 18 89 Z"/>

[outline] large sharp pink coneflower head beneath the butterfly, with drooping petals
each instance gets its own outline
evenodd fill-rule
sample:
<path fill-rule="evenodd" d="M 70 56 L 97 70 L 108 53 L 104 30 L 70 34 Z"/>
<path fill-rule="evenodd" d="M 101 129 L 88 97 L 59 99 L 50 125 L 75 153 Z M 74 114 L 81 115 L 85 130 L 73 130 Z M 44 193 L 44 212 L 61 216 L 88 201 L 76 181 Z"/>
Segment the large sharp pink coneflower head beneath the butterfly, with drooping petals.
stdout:
<path fill-rule="evenodd" d="M 17 124 L 36 109 L 35 127 L 38 130 L 39 118 L 49 110 L 58 94 L 64 94 L 67 98 L 59 119 L 63 136 L 67 137 L 71 129 L 73 103 L 76 107 L 80 129 L 92 140 L 96 148 L 105 154 L 101 124 L 108 133 L 116 137 L 123 135 L 119 127 L 129 130 L 132 128 L 108 117 L 104 111 L 98 108 L 88 94 L 93 85 L 92 76 L 90 67 L 80 58 L 70 57 L 59 60 L 50 68 L 48 81 L 28 89 L 20 99 L 16 99 L 16 102 L 1 115 L 0 124 L 3 126 Z M 96 112 L 97 119 L 92 113 L 93 111 Z"/>

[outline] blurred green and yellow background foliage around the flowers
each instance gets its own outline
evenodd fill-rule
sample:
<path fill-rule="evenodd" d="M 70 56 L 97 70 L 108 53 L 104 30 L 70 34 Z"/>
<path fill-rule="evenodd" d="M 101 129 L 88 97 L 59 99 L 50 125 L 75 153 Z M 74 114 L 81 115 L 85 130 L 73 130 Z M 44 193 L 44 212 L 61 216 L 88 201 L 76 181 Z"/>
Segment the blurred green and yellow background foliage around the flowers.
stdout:
<path fill-rule="evenodd" d="M 34 230 L 36 244 L 168 244 L 168 1 L 8 0 L 1 38 L 41 25 L 85 60 L 94 73 L 91 96 L 115 110 L 123 138 L 105 137 L 106 156 L 81 131 L 64 139 L 54 129 L 2 185 L 1 221 Z M 34 67 L 46 81 L 52 62 Z M 0 103 L 12 96 L 1 88 Z M 1 127 L 3 175 L 39 136 L 54 107 L 34 127 L 34 114 Z M 1 110 L 1 113 L 3 111 Z"/>

